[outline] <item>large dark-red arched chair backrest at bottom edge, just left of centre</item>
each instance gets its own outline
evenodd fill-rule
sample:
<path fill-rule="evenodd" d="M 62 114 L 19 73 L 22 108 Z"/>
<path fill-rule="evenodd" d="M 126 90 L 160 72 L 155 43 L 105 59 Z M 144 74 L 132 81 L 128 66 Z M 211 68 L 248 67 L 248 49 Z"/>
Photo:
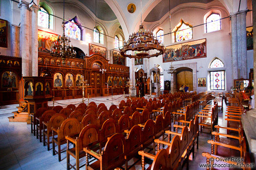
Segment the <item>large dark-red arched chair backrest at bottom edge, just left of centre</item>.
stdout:
<path fill-rule="evenodd" d="M 110 137 L 105 144 L 102 155 L 103 170 L 114 170 L 116 166 L 121 166 L 125 160 L 125 143 L 124 135 L 116 133 Z"/>

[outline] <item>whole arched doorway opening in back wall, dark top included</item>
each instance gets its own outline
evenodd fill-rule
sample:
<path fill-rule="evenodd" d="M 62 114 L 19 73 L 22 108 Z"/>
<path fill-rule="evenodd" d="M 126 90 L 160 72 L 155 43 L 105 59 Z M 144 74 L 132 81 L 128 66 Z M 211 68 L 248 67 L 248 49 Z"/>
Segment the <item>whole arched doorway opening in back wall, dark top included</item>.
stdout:
<path fill-rule="evenodd" d="M 193 70 L 188 67 L 180 67 L 176 71 L 176 92 L 182 85 L 186 85 L 189 87 L 189 91 L 193 91 Z"/>

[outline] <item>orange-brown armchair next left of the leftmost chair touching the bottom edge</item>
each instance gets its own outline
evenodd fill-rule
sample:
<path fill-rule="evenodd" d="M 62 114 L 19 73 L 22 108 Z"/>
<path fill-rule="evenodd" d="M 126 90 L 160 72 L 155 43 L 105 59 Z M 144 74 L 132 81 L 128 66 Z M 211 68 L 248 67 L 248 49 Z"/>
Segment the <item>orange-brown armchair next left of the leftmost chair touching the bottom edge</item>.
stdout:
<path fill-rule="evenodd" d="M 74 137 L 78 136 L 81 131 L 81 124 L 76 118 L 68 118 L 64 120 L 59 129 L 52 128 L 53 136 L 53 155 L 58 154 L 58 161 L 61 161 L 61 150 L 60 146 L 66 143 L 65 136 Z M 54 132 L 57 133 L 57 138 Z M 55 144 L 58 149 L 55 150 Z"/>

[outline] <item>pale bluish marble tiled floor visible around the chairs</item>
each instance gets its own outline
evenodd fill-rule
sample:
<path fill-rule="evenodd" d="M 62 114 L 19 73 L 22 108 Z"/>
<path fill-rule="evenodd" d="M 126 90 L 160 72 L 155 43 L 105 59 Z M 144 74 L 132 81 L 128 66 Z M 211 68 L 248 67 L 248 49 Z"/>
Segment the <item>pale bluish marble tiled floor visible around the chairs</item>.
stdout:
<path fill-rule="evenodd" d="M 119 96 L 120 97 L 120 96 Z M 118 96 L 114 96 L 114 99 Z M 111 99 L 111 97 L 110 97 Z M 95 100 L 104 101 L 109 106 L 112 100 L 106 98 L 95 98 Z M 114 100 L 114 104 L 120 103 L 123 98 Z M 91 100 L 93 101 L 93 100 Z M 61 101 L 59 101 L 61 103 Z M 97 102 L 99 104 L 101 102 Z M 225 112 L 224 112 L 225 113 Z M 30 133 L 30 125 L 27 123 L 9 122 L 8 117 L 13 114 L 0 114 L 0 169 L 3 170 L 65 170 L 66 152 L 61 154 L 61 161 L 58 162 L 57 155 L 52 155 L 52 148 L 47 151 L 47 146 L 39 142 L 35 136 Z M 225 118 L 219 112 L 219 125 L 225 126 Z M 202 152 L 211 151 L 211 145 L 207 140 L 211 139 L 209 133 L 199 133 L 199 149 L 195 148 L 195 157 L 189 161 L 189 170 L 199 170 L 199 163 L 206 163 L 206 158 L 202 157 Z M 52 145 L 50 145 L 52 147 Z M 62 149 L 65 149 L 65 144 Z M 136 159 L 129 161 L 131 165 Z M 75 160 L 71 157 L 71 163 Z M 81 164 L 85 159 L 80 160 Z M 186 166 L 184 166 L 185 170 Z M 85 167 L 81 168 L 85 170 Z M 139 161 L 130 170 L 141 170 L 141 161 Z"/>

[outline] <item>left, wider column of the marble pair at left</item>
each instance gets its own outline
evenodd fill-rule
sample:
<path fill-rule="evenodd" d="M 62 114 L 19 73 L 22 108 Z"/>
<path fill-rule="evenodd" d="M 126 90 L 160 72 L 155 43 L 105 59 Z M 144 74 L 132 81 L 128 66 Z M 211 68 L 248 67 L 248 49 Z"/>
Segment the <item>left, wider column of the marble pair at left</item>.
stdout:
<path fill-rule="evenodd" d="M 29 7 L 27 2 L 20 2 L 20 28 L 21 28 L 21 58 L 22 58 L 22 76 L 32 76 L 30 67 L 30 35 L 29 35 Z"/>

